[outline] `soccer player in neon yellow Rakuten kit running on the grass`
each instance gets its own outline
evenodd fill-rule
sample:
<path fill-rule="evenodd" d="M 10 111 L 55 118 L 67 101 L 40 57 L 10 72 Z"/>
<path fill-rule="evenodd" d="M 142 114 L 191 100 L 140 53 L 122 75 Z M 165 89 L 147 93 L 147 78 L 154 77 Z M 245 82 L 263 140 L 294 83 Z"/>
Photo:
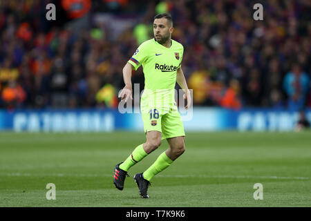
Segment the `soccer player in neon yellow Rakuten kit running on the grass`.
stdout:
<path fill-rule="evenodd" d="M 131 166 L 156 150 L 167 139 L 169 148 L 144 173 L 134 176 L 140 196 L 149 198 L 147 190 L 153 176 L 160 173 L 185 152 L 185 131 L 174 100 L 176 82 L 185 90 L 186 109 L 191 104 L 191 95 L 182 73 L 183 46 L 171 39 L 173 22 L 171 15 L 156 15 L 153 21 L 154 38 L 144 41 L 123 68 L 124 88 L 119 97 L 125 102 L 132 97 L 131 72 L 140 66 L 144 71 L 144 93 L 140 111 L 147 141 L 137 146 L 131 155 L 114 169 L 113 183 L 117 189 L 124 188 L 124 180 Z"/>

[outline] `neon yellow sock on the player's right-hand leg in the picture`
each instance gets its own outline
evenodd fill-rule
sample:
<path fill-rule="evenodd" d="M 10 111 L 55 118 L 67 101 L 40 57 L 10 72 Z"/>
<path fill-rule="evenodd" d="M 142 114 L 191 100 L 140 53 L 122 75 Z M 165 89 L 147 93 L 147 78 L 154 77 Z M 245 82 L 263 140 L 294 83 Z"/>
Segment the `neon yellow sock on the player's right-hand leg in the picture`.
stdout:
<path fill-rule="evenodd" d="M 173 160 L 169 159 L 165 152 L 161 153 L 156 162 L 154 162 L 147 171 L 144 171 L 142 175 L 144 175 L 145 180 L 151 180 L 152 177 L 167 169 L 169 165 L 173 163 Z"/>

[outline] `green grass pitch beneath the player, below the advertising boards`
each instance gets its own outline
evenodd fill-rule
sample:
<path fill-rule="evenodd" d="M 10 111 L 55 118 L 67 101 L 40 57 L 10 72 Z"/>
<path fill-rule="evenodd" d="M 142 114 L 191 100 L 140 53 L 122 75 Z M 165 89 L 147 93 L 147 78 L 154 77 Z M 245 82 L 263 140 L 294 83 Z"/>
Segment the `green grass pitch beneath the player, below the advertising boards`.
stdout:
<path fill-rule="evenodd" d="M 311 206 L 311 132 L 187 133 L 186 151 L 153 177 L 149 199 L 133 181 L 167 147 L 133 166 L 123 191 L 113 167 L 144 133 L 0 133 L 0 206 Z M 56 200 L 46 200 L 46 184 Z M 254 200 L 254 184 L 263 200 Z"/>

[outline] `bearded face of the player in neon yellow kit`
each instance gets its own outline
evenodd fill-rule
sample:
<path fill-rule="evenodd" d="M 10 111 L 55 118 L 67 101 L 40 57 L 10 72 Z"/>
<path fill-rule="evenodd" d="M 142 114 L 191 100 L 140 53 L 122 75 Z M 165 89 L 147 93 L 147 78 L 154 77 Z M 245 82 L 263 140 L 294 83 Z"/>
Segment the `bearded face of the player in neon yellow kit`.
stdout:
<path fill-rule="evenodd" d="M 169 21 L 165 18 L 154 19 L 153 34 L 160 44 L 166 43 L 171 38 L 173 27 L 170 26 Z"/>

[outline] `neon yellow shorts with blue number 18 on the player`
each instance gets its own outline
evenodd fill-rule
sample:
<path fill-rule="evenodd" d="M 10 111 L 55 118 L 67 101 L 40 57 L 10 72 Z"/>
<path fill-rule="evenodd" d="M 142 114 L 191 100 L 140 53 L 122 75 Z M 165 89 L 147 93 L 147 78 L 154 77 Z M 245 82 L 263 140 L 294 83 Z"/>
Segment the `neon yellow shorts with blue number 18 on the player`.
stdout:
<path fill-rule="evenodd" d="M 141 99 L 142 122 L 144 133 L 147 131 L 159 131 L 162 140 L 171 137 L 185 136 L 185 129 L 176 104 L 155 104 L 150 96 Z"/>

